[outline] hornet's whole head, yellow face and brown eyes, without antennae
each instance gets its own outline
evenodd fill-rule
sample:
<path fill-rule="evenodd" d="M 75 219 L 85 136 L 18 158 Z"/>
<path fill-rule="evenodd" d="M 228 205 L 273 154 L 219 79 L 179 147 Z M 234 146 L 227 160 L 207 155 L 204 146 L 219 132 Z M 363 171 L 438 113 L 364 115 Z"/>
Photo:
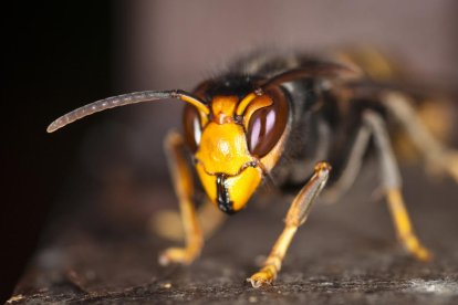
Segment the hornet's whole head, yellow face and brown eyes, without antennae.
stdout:
<path fill-rule="evenodd" d="M 283 92 L 257 90 L 243 97 L 217 94 L 209 114 L 187 105 L 185 136 L 210 200 L 226 213 L 241 210 L 283 148 L 288 101 Z"/>

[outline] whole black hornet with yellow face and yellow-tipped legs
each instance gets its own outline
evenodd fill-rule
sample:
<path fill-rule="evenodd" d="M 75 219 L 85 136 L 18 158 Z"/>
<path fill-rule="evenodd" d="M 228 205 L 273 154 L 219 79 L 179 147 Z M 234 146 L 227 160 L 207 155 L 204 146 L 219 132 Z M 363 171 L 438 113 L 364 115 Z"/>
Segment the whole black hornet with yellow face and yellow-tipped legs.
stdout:
<path fill-rule="evenodd" d="M 242 210 L 267 180 L 279 188 L 298 187 L 283 232 L 263 266 L 248 278 L 260 287 L 277 277 L 324 187 L 323 196 L 339 199 L 371 155 L 378 160 L 381 187 L 400 243 L 417 260 L 431 257 L 404 204 L 395 143 L 403 134 L 402 143 L 412 144 L 428 167 L 457 182 L 458 155 L 421 119 L 419 109 L 431 96 L 403 90 L 395 85 L 399 78 L 398 69 L 371 49 L 332 56 L 256 54 L 192 92 L 146 91 L 101 99 L 58 118 L 48 132 L 107 108 L 185 102 L 184 133 L 170 133 L 165 146 L 186 245 L 166 250 L 159 262 L 189 264 L 204 244 L 192 202 L 190 154 L 209 201 L 227 214 Z"/>

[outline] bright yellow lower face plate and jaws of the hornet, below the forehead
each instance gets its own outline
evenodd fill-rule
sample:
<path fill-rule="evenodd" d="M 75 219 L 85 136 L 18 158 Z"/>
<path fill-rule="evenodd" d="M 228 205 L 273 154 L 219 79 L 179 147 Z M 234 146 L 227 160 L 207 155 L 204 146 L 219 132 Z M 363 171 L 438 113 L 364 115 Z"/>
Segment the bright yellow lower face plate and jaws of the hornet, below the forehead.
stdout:
<path fill-rule="evenodd" d="M 261 182 L 262 170 L 248 150 L 243 128 L 235 123 L 210 122 L 195 157 L 208 197 L 225 212 L 243 208 Z"/>

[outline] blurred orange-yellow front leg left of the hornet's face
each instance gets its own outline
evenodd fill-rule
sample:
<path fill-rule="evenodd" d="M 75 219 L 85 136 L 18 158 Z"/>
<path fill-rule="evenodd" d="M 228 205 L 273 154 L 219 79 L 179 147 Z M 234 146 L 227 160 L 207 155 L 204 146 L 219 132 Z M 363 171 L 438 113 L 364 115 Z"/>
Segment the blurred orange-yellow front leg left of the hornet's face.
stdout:
<path fill-rule="evenodd" d="M 170 132 L 165 140 L 165 150 L 171 173 L 175 192 L 178 197 L 181 221 L 185 230 L 185 248 L 169 248 L 159 256 L 159 263 L 190 264 L 204 245 L 204 236 L 192 203 L 192 176 L 184 156 L 184 140 L 175 132 Z"/>

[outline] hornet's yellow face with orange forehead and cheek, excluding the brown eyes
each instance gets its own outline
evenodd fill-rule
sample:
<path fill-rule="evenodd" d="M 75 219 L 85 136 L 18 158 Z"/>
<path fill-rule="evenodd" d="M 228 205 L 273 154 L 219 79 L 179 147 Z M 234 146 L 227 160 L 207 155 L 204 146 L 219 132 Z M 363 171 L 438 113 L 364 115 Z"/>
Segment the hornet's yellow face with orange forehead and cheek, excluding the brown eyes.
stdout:
<path fill-rule="evenodd" d="M 247 98 L 254 101 L 242 105 Z M 251 95 L 242 101 L 237 96 L 217 96 L 211 101 L 211 115 L 198 115 L 202 127 L 192 134 L 196 141 L 195 167 L 207 196 L 226 213 L 235 213 L 247 204 L 264 172 L 274 166 L 281 154 L 285 132 L 264 156 L 253 154 L 254 147 L 260 145 L 253 144 L 258 135 L 251 135 L 251 141 L 249 138 L 249 130 L 253 129 L 251 116 L 271 104 L 268 96 Z M 238 116 L 238 113 L 242 115 Z M 237 120 L 236 117 L 242 119 Z M 194 122 L 190 120 L 189 125 L 195 126 Z"/>

